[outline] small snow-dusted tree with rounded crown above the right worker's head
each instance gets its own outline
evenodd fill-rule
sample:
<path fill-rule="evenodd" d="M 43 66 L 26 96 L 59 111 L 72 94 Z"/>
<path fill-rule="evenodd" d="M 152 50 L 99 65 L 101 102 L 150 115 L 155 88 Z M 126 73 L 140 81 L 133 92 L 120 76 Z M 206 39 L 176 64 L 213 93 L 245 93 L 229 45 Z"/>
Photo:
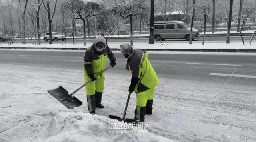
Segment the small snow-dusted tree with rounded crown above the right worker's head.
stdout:
<path fill-rule="evenodd" d="M 133 45 L 132 41 L 132 35 L 133 35 L 133 29 L 132 29 L 132 17 L 139 15 L 144 12 L 146 6 L 145 6 L 145 0 L 131 0 L 123 2 L 122 4 L 116 4 L 114 8 L 112 9 L 115 14 L 119 13 L 122 18 L 130 18 L 130 35 L 131 35 L 131 44 Z"/>

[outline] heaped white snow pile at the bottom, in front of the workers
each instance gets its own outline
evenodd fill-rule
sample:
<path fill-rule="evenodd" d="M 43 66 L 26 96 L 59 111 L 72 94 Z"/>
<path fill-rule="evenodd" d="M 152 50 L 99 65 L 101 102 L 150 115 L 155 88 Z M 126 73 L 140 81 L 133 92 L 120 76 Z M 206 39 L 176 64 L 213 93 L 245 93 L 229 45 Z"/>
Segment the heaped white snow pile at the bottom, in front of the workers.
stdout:
<path fill-rule="evenodd" d="M 172 142 L 145 129 L 118 134 L 110 123 L 120 123 L 104 116 L 90 113 L 58 113 L 42 132 L 39 142 Z M 144 132 L 144 133 L 143 133 Z"/>

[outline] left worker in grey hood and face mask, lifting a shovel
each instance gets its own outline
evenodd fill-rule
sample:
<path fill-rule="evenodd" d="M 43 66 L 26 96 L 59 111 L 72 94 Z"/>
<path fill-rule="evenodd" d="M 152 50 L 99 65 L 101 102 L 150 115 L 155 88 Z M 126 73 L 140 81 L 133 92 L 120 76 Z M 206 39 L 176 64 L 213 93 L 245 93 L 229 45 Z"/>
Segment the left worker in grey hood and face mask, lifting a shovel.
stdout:
<path fill-rule="evenodd" d="M 104 90 L 105 75 L 95 76 L 106 68 L 107 56 L 110 60 L 110 65 L 116 65 L 116 58 L 112 50 L 106 45 L 104 37 L 96 37 L 93 45 L 88 47 L 84 54 L 84 82 L 88 82 L 85 86 L 87 95 L 88 110 L 91 114 L 95 114 L 96 107 L 104 108 L 101 104 L 102 93 Z"/>

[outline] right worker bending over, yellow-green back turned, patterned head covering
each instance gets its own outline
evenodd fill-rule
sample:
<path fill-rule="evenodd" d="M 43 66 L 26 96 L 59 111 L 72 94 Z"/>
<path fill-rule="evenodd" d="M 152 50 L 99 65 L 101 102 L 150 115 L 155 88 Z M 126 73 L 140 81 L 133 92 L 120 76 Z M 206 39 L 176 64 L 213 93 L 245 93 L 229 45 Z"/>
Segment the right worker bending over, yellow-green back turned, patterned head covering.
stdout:
<path fill-rule="evenodd" d="M 145 114 L 152 114 L 155 86 L 159 83 L 156 72 L 148 60 L 148 53 L 134 49 L 130 43 L 120 45 L 120 51 L 127 58 L 126 69 L 132 73 L 129 91 L 136 93 L 135 119 L 143 122 Z"/>

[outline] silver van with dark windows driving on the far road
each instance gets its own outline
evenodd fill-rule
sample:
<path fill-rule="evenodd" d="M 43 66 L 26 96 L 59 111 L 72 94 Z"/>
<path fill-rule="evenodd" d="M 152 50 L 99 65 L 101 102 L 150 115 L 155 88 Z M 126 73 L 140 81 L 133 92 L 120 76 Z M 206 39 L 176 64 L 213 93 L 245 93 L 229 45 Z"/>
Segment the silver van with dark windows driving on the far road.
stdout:
<path fill-rule="evenodd" d="M 154 38 L 156 41 L 164 39 L 186 39 L 189 41 L 190 28 L 182 21 L 158 21 L 154 22 Z M 192 40 L 199 38 L 199 31 L 193 28 Z"/>

